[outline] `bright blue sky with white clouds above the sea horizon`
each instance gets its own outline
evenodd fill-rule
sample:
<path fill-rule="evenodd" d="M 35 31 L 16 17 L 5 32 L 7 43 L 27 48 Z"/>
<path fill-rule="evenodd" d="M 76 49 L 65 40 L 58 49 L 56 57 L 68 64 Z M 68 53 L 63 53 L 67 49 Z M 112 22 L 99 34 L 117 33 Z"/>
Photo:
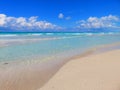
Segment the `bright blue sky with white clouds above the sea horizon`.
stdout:
<path fill-rule="evenodd" d="M 0 31 L 120 30 L 120 0 L 1 0 Z"/>

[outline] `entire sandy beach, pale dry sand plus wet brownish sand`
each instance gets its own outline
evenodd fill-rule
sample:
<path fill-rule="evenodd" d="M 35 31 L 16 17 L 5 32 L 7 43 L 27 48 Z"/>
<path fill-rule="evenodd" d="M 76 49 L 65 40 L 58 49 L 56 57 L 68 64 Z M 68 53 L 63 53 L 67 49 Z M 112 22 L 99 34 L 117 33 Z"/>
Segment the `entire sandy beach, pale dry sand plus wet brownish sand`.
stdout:
<path fill-rule="evenodd" d="M 119 90 L 120 49 L 66 62 L 2 65 L 1 90 Z M 52 66 L 51 66 L 52 64 Z M 46 67 L 47 65 L 47 67 Z M 7 68 L 7 67 L 9 68 Z"/>

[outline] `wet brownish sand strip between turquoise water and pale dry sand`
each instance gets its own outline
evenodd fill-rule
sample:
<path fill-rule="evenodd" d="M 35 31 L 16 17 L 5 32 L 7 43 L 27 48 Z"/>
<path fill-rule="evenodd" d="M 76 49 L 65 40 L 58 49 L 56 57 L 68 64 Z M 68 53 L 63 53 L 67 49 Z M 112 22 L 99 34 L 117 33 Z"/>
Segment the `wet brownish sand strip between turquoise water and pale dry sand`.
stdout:
<path fill-rule="evenodd" d="M 100 50 L 106 47 L 111 48 L 114 46 L 120 46 L 120 43 L 104 45 L 102 48 L 100 47 L 93 48 L 93 49 L 88 50 L 88 52 L 72 57 L 65 61 L 56 60 L 54 62 L 53 60 L 53 61 L 38 63 L 38 64 L 35 63 L 31 65 L 12 66 L 9 69 L 0 68 L 1 69 L 0 78 L 2 78 L 0 80 L 0 88 L 2 90 L 37 90 L 38 88 L 44 87 L 44 85 L 47 82 L 49 82 L 49 80 L 52 77 L 54 77 L 56 73 L 59 72 L 59 69 L 61 69 L 61 67 L 66 65 L 66 63 L 74 59 L 77 59 L 77 58 L 84 58 L 89 55 L 90 56 L 95 55 L 97 54 L 95 53 L 97 50 Z M 109 52 L 109 51 L 105 51 L 105 52 Z M 7 87 L 6 87 L 6 83 L 7 83 Z M 26 83 L 28 85 L 26 85 Z"/>

